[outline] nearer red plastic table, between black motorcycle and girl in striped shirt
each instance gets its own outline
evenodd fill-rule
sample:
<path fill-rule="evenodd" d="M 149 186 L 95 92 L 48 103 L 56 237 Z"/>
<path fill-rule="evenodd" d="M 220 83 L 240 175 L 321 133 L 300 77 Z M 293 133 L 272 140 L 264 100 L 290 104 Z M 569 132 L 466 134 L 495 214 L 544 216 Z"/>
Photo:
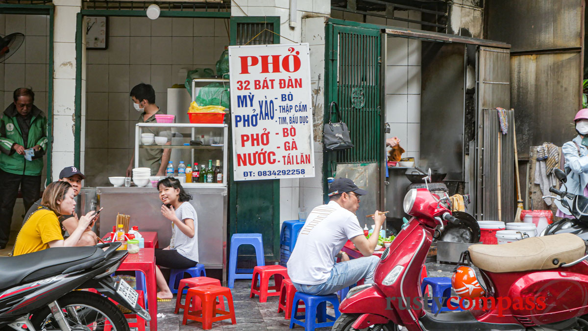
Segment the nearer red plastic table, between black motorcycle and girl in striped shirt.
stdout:
<path fill-rule="evenodd" d="M 149 329 L 157 330 L 157 287 L 155 284 L 155 249 L 139 249 L 139 253 L 128 254 L 118 267 L 119 271 L 139 271 L 145 273 L 145 285 L 147 286 L 148 312 L 151 315 Z"/>

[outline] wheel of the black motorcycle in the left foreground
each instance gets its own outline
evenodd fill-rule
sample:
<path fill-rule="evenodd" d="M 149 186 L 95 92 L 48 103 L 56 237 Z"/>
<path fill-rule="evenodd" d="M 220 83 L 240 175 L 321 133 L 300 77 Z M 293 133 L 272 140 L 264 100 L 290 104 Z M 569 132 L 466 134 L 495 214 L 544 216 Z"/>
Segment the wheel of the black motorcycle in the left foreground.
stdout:
<path fill-rule="evenodd" d="M 129 323 L 126 322 L 121 310 L 99 294 L 74 291 L 61 297 L 57 302 L 72 330 L 129 331 Z M 35 330 L 61 330 L 49 307 L 34 312 L 31 322 Z"/>

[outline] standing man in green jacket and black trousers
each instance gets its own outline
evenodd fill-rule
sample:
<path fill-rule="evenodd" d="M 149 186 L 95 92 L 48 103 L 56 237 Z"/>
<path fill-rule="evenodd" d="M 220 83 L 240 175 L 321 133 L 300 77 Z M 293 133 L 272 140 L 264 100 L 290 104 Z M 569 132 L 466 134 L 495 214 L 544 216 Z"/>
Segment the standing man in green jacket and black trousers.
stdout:
<path fill-rule="evenodd" d="M 8 243 L 18 188 L 25 210 L 39 199 L 47 148 L 47 119 L 33 104 L 34 92 L 17 88 L 12 98 L 0 120 L 0 249 Z"/>

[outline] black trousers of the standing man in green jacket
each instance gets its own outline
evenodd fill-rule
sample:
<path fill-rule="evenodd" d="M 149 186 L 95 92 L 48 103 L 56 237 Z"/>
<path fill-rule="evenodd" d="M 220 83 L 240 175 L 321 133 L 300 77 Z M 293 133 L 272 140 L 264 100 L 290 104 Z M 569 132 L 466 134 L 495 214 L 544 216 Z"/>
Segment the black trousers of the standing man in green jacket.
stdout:
<path fill-rule="evenodd" d="M 41 195 L 41 176 L 15 175 L 0 170 L 0 247 L 8 243 L 12 211 L 19 187 L 25 210 L 29 210 Z"/>

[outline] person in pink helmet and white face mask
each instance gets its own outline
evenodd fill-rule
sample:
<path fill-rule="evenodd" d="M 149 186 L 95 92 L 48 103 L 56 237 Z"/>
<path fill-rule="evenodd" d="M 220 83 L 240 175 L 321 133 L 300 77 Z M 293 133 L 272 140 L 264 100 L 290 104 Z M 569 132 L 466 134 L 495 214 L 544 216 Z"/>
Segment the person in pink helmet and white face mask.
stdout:
<path fill-rule="evenodd" d="M 588 196 L 588 108 L 581 109 L 574 117 L 577 136 L 562 146 L 567 174 L 566 188 L 569 193 Z M 553 200 L 557 206 L 557 217 L 573 219 L 569 210 Z"/>

